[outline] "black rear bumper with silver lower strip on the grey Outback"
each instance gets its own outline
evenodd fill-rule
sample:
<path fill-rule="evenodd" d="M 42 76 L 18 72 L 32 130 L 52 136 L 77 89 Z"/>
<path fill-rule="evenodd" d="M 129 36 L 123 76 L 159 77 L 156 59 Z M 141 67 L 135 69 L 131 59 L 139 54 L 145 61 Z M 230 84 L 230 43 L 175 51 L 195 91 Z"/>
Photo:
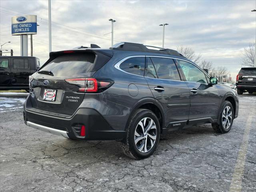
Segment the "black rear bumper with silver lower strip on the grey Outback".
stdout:
<path fill-rule="evenodd" d="M 103 116 L 91 108 L 80 108 L 72 116 L 57 117 L 26 108 L 25 102 L 23 111 L 24 122 L 27 126 L 66 138 L 119 140 L 125 136 L 125 131 L 112 129 Z M 80 136 L 82 125 L 85 126 L 85 136 Z"/>

